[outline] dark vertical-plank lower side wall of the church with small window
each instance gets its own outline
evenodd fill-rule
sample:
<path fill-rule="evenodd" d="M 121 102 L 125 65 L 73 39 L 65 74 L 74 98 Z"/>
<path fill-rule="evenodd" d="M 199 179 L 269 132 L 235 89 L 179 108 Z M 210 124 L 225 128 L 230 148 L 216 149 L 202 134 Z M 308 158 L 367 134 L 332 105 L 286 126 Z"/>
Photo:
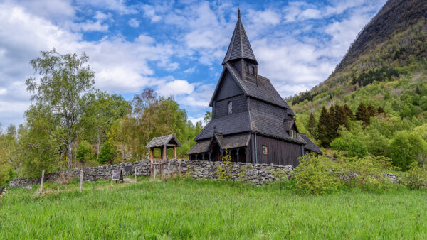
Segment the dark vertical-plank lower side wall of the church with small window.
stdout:
<path fill-rule="evenodd" d="M 267 146 L 267 155 L 263 154 L 263 146 Z M 258 163 L 289 164 L 296 167 L 299 164 L 298 158 L 302 154 L 301 149 L 301 146 L 295 143 L 280 141 L 265 136 L 256 136 Z"/>

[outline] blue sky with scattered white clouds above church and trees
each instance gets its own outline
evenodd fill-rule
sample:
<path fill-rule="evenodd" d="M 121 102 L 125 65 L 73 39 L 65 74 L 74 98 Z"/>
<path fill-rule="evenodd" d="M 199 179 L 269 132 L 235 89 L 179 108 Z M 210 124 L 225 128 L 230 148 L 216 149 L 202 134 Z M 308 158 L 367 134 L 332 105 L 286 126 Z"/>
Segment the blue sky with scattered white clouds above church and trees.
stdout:
<path fill-rule="evenodd" d="M 386 0 L 0 0 L 0 123 L 22 124 L 25 81 L 41 51 L 82 53 L 95 87 L 130 100 L 145 88 L 204 118 L 237 9 L 258 60 L 282 97 L 324 81 Z"/>

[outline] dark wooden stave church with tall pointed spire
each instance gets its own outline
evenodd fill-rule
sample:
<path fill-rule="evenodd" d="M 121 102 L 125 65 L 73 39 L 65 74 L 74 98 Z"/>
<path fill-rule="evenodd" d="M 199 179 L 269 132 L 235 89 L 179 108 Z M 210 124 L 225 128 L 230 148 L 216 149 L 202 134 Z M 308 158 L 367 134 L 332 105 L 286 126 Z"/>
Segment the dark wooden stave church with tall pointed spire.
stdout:
<path fill-rule="evenodd" d="M 233 162 L 296 166 L 305 153 L 322 153 L 299 133 L 295 114 L 270 80 L 258 75 L 240 10 L 222 65 L 209 103 L 212 119 L 187 152 L 190 160 L 221 160 L 227 148 Z"/>

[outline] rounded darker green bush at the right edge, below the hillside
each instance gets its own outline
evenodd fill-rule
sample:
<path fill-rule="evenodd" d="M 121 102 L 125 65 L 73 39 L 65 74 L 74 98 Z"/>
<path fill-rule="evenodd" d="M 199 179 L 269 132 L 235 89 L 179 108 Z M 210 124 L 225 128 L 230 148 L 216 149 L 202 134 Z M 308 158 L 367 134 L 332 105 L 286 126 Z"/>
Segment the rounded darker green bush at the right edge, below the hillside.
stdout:
<path fill-rule="evenodd" d="M 427 143 L 418 133 L 398 131 L 390 142 L 391 159 L 401 170 L 408 170 L 418 156 L 426 155 Z"/>

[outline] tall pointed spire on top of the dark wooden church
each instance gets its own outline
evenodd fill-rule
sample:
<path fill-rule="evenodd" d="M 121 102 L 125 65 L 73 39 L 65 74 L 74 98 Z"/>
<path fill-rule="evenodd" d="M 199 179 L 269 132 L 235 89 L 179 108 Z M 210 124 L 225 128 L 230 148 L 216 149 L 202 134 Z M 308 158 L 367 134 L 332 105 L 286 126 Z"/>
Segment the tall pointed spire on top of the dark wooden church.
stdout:
<path fill-rule="evenodd" d="M 253 55 L 251 44 L 249 43 L 245 28 L 243 28 L 243 24 L 241 22 L 240 9 L 238 9 L 236 27 L 234 28 L 233 36 L 231 36 L 230 45 L 228 45 L 226 57 L 224 58 L 222 64 L 224 65 L 228 61 L 240 58 L 252 60 L 255 64 L 258 65 L 255 55 Z"/>

